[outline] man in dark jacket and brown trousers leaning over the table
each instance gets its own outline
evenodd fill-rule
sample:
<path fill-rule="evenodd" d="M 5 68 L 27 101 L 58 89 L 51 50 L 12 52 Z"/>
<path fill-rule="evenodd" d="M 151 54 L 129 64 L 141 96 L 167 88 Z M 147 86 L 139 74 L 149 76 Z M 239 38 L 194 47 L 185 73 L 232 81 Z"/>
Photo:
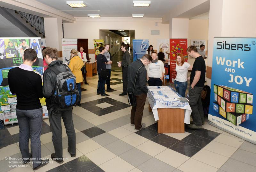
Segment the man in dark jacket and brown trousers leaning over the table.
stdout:
<path fill-rule="evenodd" d="M 135 82 L 135 77 L 138 69 L 140 68 L 136 85 L 134 88 L 134 96 L 136 98 L 136 106 L 132 106 L 131 111 L 131 125 L 135 125 L 135 130 L 140 130 L 145 128 L 145 123 L 141 124 L 141 119 L 143 116 L 143 109 L 147 98 L 148 88 L 147 88 L 147 70 L 144 66 L 147 66 L 152 61 L 152 57 L 145 54 L 141 59 L 137 59 L 128 66 L 128 89 L 127 92 L 132 92 L 133 85 Z"/>

